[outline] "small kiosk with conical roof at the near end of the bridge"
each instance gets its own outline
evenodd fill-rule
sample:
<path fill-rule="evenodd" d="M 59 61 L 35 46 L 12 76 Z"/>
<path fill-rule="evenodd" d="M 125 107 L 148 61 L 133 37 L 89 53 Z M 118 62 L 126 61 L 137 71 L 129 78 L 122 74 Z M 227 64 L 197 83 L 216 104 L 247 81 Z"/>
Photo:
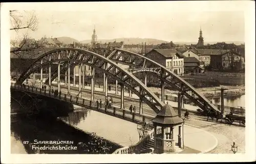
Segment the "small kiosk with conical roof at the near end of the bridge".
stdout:
<path fill-rule="evenodd" d="M 174 126 L 181 125 L 184 121 L 170 105 L 165 105 L 157 116 L 152 120 L 154 124 L 154 151 L 155 153 L 175 153 Z M 179 139 L 181 136 L 179 127 Z M 183 137 L 183 136 L 182 136 Z M 181 140 L 179 140 L 181 148 Z"/>

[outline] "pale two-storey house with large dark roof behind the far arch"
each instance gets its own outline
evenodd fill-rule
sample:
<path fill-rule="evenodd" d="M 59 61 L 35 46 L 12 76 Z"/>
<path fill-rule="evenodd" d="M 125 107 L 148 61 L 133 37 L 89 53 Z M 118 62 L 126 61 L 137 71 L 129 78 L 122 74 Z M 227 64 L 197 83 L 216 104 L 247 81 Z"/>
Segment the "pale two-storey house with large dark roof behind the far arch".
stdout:
<path fill-rule="evenodd" d="M 156 61 L 178 75 L 184 72 L 184 56 L 176 49 L 152 49 L 145 54 L 145 57 Z"/>

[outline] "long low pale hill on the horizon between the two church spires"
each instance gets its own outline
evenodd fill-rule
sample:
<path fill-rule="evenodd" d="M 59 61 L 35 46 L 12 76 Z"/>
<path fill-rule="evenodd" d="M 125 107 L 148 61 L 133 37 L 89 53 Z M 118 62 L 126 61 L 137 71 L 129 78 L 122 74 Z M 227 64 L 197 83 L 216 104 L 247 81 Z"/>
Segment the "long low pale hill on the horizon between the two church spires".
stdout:
<path fill-rule="evenodd" d="M 146 42 L 146 44 L 161 44 L 167 43 L 168 41 L 151 39 L 151 38 L 116 38 L 116 39 L 98 39 L 98 42 L 109 43 L 109 42 L 124 42 L 124 44 L 141 44 L 142 42 Z M 91 40 L 82 40 L 81 43 L 91 43 Z"/>

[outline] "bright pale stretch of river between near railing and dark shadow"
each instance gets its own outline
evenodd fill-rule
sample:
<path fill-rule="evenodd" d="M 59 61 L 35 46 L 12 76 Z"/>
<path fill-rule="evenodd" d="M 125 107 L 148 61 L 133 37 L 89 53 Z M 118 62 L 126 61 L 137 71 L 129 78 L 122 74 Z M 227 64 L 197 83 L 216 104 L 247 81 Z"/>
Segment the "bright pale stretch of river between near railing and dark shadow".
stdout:
<path fill-rule="evenodd" d="M 87 115 L 86 119 L 79 119 L 83 114 Z M 60 119 L 75 128 L 94 132 L 96 135 L 122 146 L 131 146 L 139 141 L 137 124 L 96 111 L 73 112 L 68 117 Z"/>

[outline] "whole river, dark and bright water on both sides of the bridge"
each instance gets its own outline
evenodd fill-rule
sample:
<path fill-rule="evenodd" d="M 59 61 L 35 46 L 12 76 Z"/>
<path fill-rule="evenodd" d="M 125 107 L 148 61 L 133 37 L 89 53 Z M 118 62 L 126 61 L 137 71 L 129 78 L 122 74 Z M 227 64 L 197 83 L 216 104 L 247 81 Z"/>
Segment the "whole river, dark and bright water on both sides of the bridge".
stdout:
<path fill-rule="evenodd" d="M 220 104 L 220 97 L 214 98 L 213 103 Z M 224 105 L 244 106 L 245 95 L 229 96 L 224 98 Z M 31 145 L 24 144 L 24 141 L 73 141 L 77 143 L 92 143 L 95 138 L 90 133 L 96 133 L 96 139 L 102 139 L 99 147 L 108 145 L 114 152 L 117 148 L 130 146 L 139 141 L 137 125 L 122 119 L 108 116 L 91 110 L 75 110 L 67 116 L 49 120 L 48 118 L 24 119 L 23 117 L 12 117 L 11 123 L 11 153 L 100 153 L 102 150 L 91 150 L 84 152 L 84 149 L 77 151 L 35 151 Z M 77 130 L 78 129 L 78 130 Z"/>

